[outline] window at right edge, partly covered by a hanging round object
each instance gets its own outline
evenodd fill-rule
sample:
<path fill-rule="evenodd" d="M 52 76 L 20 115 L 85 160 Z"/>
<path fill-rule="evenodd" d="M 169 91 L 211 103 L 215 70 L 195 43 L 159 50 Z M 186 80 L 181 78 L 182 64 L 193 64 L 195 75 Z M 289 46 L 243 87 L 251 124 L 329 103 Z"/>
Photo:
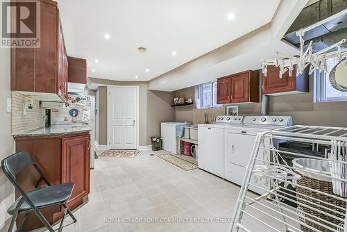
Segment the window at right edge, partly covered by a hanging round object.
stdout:
<path fill-rule="evenodd" d="M 327 59 L 327 72 L 314 72 L 315 102 L 347 101 L 347 92 L 333 88 L 329 81 L 330 72 L 337 63 L 339 63 L 337 58 L 329 58 Z"/>

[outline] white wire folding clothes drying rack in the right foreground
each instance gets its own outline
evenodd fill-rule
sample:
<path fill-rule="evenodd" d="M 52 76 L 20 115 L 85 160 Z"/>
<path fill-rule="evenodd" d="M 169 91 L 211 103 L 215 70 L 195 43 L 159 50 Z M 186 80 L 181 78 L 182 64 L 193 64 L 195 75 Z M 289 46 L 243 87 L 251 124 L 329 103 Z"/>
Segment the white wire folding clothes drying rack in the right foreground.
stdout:
<path fill-rule="evenodd" d="M 329 180 L 327 183 L 339 181 L 342 186 L 347 185 L 347 162 L 344 160 L 332 160 L 328 158 L 328 152 L 332 142 L 347 142 L 347 128 L 325 127 L 325 126 L 290 126 L 283 129 L 258 133 L 253 146 L 251 158 L 246 166 L 246 173 L 239 192 L 235 211 L 232 216 L 232 223 L 229 231 L 258 232 L 247 227 L 250 220 L 259 224 L 265 231 L 289 231 L 289 232 L 347 232 L 346 202 L 347 197 L 340 197 L 331 191 L 323 191 L 312 185 L 302 185 L 298 183 L 301 178 L 309 176 L 319 176 L 321 180 Z M 312 144 L 312 150 L 320 146 L 325 148 L 325 156 L 309 156 L 307 151 L 303 154 L 279 150 L 276 148 L 278 142 L 305 142 Z M 327 149 L 328 147 L 328 149 Z M 281 154 L 289 154 L 294 158 L 310 158 L 313 162 L 328 163 L 329 172 L 315 172 L 314 169 L 301 169 L 289 166 L 286 162 L 279 163 Z M 345 154 L 346 156 L 347 154 Z M 265 158 L 264 158 L 265 157 Z M 283 159 L 282 159 L 283 160 Z M 307 159 L 306 159 L 307 160 Z M 312 160 L 310 160 L 312 161 Z M 259 164 L 262 165 L 259 165 Z M 284 163 L 284 164 L 283 164 Z M 332 172 L 331 165 L 337 163 L 345 167 L 344 172 Z M 280 172 L 278 172 L 280 167 Z M 262 169 L 264 171 L 262 171 Z M 273 169 L 271 174 L 269 170 Z M 294 175 L 286 176 L 287 172 L 294 172 Z M 336 169 L 335 169 L 336 170 Z M 282 176 L 281 176 L 282 175 Z M 255 183 L 255 180 L 267 179 L 270 188 L 262 188 Z M 263 180 L 264 181 L 264 180 Z M 294 190 L 283 191 L 283 183 L 292 185 Z M 344 184 L 343 184 L 344 183 Z M 281 185 L 282 184 L 282 185 Z M 259 188 L 265 192 L 260 197 L 250 197 L 248 188 Z M 343 187 L 342 187 L 343 188 Z M 304 191 L 298 192 L 301 189 Z M 346 188 L 347 189 L 347 188 Z M 296 194 L 289 197 L 288 191 Z M 316 197 L 323 196 L 321 198 Z M 346 196 L 346 193 L 345 193 Z M 296 204 L 298 207 L 289 206 L 283 203 L 283 199 Z M 326 201 L 325 201 L 326 199 Z M 338 203 L 339 204 L 338 204 Z M 342 203 L 342 204 L 341 204 Z M 321 216 L 317 216 L 321 215 Z M 281 226 L 278 226 L 278 225 Z"/>

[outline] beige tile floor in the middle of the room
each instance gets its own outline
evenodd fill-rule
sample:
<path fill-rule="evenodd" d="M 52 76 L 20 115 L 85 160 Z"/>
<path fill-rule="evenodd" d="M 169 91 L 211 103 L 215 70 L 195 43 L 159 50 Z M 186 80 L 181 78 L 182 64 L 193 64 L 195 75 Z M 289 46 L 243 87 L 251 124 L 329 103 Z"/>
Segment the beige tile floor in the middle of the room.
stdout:
<path fill-rule="evenodd" d="M 185 172 L 150 156 L 162 152 L 142 151 L 135 158 L 97 159 L 91 173 L 89 202 L 74 212 L 78 222 L 63 231 L 228 231 L 230 222 L 153 222 L 167 217 L 230 218 L 239 193 L 237 185 L 208 172 Z M 135 222 L 140 219 L 152 222 Z M 65 224 L 69 221 L 67 218 Z M 269 221 L 279 228 L 276 220 Z M 255 231 L 269 231 L 250 217 L 245 217 L 244 224 Z"/>

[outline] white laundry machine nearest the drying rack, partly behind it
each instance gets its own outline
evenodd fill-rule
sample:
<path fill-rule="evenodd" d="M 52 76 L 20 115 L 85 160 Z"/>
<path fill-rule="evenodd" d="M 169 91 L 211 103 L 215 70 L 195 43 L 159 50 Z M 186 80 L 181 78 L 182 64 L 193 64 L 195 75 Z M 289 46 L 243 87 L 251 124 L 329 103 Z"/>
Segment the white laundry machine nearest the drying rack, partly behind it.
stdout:
<path fill-rule="evenodd" d="M 280 129 L 291 126 L 291 124 L 291 117 L 289 116 L 245 116 L 242 126 L 226 126 L 224 130 L 224 178 L 237 185 L 242 185 L 246 165 L 251 158 L 257 133 L 271 129 Z M 269 143 L 269 140 L 264 142 Z M 269 154 L 264 154 L 262 158 L 269 160 L 270 156 Z M 255 165 L 262 164 L 262 162 L 257 161 Z M 266 191 L 261 190 L 261 188 L 269 190 L 269 187 L 261 183 L 261 181 L 255 183 L 255 180 L 251 179 L 251 183 L 260 187 L 257 188 L 250 185 L 249 189 L 253 190 L 253 192 L 263 194 Z"/>

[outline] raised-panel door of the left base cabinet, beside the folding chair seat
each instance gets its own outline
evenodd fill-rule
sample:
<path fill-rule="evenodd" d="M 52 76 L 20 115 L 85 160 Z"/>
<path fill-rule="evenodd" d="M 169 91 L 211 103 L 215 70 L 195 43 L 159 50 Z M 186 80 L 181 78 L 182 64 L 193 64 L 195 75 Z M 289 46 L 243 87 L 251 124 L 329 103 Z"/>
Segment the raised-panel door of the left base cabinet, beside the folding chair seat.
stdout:
<path fill-rule="evenodd" d="M 90 135 L 62 139 L 62 183 L 74 183 L 68 206 L 90 192 Z"/>

